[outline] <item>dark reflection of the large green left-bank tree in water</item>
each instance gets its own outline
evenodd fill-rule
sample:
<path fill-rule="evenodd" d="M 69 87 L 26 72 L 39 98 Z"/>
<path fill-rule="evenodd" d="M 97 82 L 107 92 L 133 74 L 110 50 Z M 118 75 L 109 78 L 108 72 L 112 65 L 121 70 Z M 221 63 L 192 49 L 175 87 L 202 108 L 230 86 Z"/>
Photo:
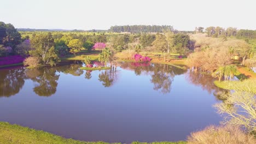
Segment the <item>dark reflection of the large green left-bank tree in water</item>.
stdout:
<path fill-rule="evenodd" d="M 27 69 L 26 74 L 32 81 L 37 82 L 33 88 L 34 93 L 39 96 L 55 94 L 60 77 L 56 75 L 56 68 Z"/>

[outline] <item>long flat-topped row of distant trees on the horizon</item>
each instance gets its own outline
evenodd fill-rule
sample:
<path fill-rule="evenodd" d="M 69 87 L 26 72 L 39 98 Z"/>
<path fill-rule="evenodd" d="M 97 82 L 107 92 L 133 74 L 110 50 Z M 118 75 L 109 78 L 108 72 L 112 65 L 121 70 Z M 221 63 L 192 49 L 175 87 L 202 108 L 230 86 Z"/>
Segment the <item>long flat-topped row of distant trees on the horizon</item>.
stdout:
<path fill-rule="evenodd" d="M 133 26 L 112 26 L 110 27 L 110 32 L 129 32 L 129 33 L 157 33 L 157 32 L 164 32 L 165 30 L 173 31 L 172 26 L 150 26 L 150 25 L 133 25 Z"/>

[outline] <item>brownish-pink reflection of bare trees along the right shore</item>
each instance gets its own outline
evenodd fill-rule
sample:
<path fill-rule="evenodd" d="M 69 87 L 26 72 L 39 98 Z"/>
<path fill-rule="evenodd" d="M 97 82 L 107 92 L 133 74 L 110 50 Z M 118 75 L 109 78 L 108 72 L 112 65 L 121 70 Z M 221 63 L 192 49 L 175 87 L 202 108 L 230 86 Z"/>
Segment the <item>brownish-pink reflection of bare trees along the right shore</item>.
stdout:
<path fill-rule="evenodd" d="M 211 75 L 207 74 L 201 74 L 201 73 L 193 73 L 191 71 L 188 71 L 186 74 L 186 79 L 193 83 L 193 85 L 200 86 L 203 90 L 206 90 L 208 93 L 213 93 L 213 95 L 219 99 L 220 93 L 224 92 L 223 89 L 220 89 L 214 85 L 214 81 L 216 81 L 216 78 L 212 77 Z"/>

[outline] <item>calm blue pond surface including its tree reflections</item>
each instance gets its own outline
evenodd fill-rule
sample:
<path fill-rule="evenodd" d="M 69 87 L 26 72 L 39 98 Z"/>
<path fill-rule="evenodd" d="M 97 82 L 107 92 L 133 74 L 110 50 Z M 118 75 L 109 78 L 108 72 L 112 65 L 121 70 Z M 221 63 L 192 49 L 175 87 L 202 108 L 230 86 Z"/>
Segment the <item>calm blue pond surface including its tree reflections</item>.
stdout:
<path fill-rule="evenodd" d="M 0 69 L 0 121 L 84 141 L 185 140 L 219 124 L 209 76 L 161 64 Z"/>

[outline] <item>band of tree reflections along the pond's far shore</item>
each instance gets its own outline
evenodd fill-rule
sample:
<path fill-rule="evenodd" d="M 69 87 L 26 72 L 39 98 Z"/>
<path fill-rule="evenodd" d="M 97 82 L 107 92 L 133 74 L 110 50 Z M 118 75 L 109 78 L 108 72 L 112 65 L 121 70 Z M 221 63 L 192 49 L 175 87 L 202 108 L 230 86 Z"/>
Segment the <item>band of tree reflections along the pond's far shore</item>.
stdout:
<path fill-rule="evenodd" d="M 213 93 L 217 98 L 219 97 L 219 89 L 213 83 L 215 79 L 209 75 L 190 73 L 186 69 L 166 64 L 121 62 L 118 65 L 122 69 L 134 71 L 137 76 L 149 75 L 149 82 L 153 83 L 153 89 L 163 94 L 171 92 L 174 76 L 186 73 L 185 77 L 190 83 L 202 87 L 202 89 L 205 89 L 209 93 Z M 57 91 L 57 81 L 60 77 L 60 75 L 56 74 L 57 72 L 71 74 L 73 76 L 81 76 L 85 72 L 84 78 L 87 80 L 90 80 L 96 73 L 98 75 L 98 81 L 102 82 L 104 87 L 111 87 L 118 80 L 117 72 L 120 72 L 120 70 L 117 71 L 115 68 L 92 72 L 91 70 L 81 70 L 79 69 L 80 67 L 83 67 L 82 62 L 66 63 L 53 68 L 25 69 L 21 67 L 0 70 L 0 96 L 9 97 L 10 95 L 19 93 L 25 83 L 25 79 L 31 79 L 36 83 L 33 88 L 34 93 L 39 96 L 49 97 Z"/>

